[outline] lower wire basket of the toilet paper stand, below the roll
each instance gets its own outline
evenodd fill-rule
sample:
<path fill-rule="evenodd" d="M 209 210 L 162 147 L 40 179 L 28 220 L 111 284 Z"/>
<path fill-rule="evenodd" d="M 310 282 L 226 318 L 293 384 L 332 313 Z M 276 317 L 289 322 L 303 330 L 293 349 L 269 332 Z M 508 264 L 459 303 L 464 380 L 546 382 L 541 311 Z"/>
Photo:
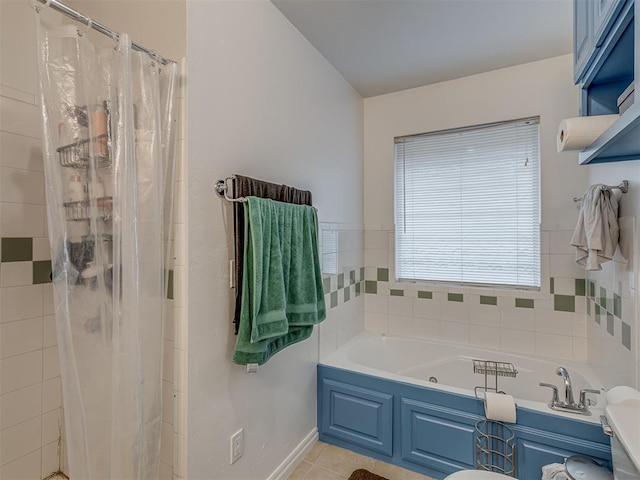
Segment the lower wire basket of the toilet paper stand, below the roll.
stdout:
<path fill-rule="evenodd" d="M 476 470 L 514 477 L 516 473 L 514 439 L 513 431 L 501 422 L 480 420 L 476 423 Z"/>

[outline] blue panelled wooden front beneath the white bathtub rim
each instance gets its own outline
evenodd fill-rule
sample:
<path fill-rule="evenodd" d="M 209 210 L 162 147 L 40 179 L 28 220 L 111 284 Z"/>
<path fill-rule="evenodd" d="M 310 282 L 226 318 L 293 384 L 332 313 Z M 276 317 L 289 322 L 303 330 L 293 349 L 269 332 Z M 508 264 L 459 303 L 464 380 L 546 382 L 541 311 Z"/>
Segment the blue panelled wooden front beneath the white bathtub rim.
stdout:
<path fill-rule="evenodd" d="M 609 439 L 597 423 L 517 408 L 516 477 L 570 455 L 611 466 Z M 474 468 L 475 424 L 484 407 L 473 396 L 318 366 L 320 440 L 442 479 Z"/>

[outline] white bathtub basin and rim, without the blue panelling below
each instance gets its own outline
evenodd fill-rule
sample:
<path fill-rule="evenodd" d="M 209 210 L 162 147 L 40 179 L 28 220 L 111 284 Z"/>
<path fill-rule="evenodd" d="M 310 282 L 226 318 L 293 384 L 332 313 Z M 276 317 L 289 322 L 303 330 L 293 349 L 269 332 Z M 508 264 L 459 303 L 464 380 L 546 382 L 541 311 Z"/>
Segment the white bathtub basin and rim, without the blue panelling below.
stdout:
<path fill-rule="evenodd" d="M 517 376 L 515 378 L 498 377 L 498 389 L 513 395 L 519 407 L 556 413 L 576 420 L 599 422 L 605 403 L 604 392 L 600 395 L 589 395 L 589 398 L 597 401 L 597 404 L 591 408 L 591 416 L 558 412 L 551 410 L 547 405 L 551 400 L 551 389 L 538 384 L 540 382 L 555 384 L 559 390 L 560 400 L 564 400 L 564 384 L 562 378 L 555 373 L 559 366 L 569 371 L 576 401 L 579 400 L 579 393 L 583 388 L 602 391 L 602 383 L 587 364 L 570 360 L 554 360 L 548 357 L 504 353 L 499 350 L 440 341 L 364 332 L 327 355 L 320 363 L 474 396 L 474 387 L 484 386 L 484 375 L 473 372 L 473 359 L 509 362 L 515 366 L 518 371 Z M 432 381 L 429 381 L 430 378 Z M 495 377 L 490 378 L 492 381 L 489 386 L 493 387 Z M 437 383 L 433 383 L 433 379 L 436 379 Z"/>

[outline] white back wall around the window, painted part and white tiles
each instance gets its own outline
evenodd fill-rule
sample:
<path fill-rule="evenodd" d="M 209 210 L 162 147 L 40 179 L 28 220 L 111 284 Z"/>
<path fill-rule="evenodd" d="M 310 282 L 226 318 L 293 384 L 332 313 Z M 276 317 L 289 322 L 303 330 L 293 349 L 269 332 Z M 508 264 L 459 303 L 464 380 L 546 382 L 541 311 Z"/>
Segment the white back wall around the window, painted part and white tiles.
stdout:
<path fill-rule="evenodd" d="M 572 75 L 572 56 L 565 55 L 365 99 L 368 283 L 380 280 L 377 268 L 390 269 L 390 281 L 377 281 L 377 294 L 366 295 L 368 330 L 586 360 L 586 301 L 576 288 L 585 272 L 575 265 L 569 238 L 577 217 L 572 198 L 586 188 L 588 169 L 577 165 L 575 154 L 556 151 L 560 121 L 577 115 Z M 394 137 L 532 116 L 540 117 L 541 291 L 394 285 Z M 417 290 L 433 297 L 417 298 Z M 451 301 L 449 293 L 463 294 L 464 301 Z M 483 304 L 481 295 L 496 304 Z M 534 308 L 523 307 L 530 300 Z M 572 311 L 558 310 L 564 300 Z"/>

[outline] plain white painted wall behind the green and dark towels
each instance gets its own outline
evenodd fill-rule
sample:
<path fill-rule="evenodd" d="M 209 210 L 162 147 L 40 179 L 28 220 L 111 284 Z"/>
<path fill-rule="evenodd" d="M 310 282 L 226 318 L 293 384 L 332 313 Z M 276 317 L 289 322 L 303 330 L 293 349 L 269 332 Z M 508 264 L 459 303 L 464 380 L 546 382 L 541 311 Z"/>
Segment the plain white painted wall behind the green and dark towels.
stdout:
<path fill-rule="evenodd" d="M 240 173 L 310 189 L 321 222 L 362 230 L 362 100 L 270 2 L 189 2 L 187 25 L 188 474 L 264 479 L 315 428 L 318 329 L 257 374 L 232 363 L 233 223 L 213 184 Z"/>

